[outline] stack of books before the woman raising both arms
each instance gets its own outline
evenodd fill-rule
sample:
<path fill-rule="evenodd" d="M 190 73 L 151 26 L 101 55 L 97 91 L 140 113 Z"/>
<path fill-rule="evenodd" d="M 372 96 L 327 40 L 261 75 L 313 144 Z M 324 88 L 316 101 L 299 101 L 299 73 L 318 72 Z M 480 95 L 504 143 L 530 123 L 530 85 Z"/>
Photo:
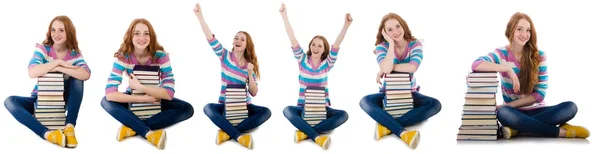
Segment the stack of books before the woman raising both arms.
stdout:
<path fill-rule="evenodd" d="M 327 119 L 327 97 L 325 87 L 308 86 L 304 90 L 302 119 L 311 127 Z"/>

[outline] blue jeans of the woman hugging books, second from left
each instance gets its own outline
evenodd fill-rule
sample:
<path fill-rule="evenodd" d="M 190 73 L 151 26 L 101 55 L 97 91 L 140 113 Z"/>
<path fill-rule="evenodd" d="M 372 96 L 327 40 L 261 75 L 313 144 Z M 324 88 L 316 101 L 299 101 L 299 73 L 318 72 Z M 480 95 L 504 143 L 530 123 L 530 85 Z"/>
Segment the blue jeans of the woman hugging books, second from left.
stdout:
<path fill-rule="evenodd" d="M 146 138 L 146 133 L 151 130 L 172 126 L 185 121 L 194 115 L 194 107 L 177 98 L 173 98 L 170 101 L 163 99 L 160 102 L 161 112 L 145 120 L 141 120 L 133 114 L 128 108 L 128 103 L 112 102 L 106 100 L 106 97 L 104 97 L 100 104 L 113 118 L 133 129 L 137 135 L 144 138 Z"/>

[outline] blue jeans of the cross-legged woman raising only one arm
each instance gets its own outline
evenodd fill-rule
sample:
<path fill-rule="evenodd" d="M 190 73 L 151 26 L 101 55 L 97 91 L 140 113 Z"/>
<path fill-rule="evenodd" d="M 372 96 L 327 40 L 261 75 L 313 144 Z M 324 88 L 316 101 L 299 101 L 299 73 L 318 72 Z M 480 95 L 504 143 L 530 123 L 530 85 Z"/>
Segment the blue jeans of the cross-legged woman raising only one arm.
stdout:
<path fill-rule="evenodd" d="M 271 118 L 271 110 L 266 107 L 248 104 L 248 118 L 244 119 L 237 126 L 233 126 L 223 115 L 225 110 L 223 103 L 209 103 L 204 106 L 204 114 L 219 127 L 225 131 L 232 139 L 237 141 L 237 138 L 249 130 L 257 128 L 265 121 Z"/>

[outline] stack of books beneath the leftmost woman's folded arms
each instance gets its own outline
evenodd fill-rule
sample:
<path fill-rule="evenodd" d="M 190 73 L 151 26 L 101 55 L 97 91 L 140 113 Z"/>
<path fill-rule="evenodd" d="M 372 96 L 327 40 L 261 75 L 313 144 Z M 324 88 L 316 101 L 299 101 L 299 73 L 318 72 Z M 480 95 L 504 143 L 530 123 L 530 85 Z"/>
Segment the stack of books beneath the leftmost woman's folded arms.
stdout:
<path fill-rule="evenodd" d="M 65 79 L 60 72 L 48 72 L 38 77 L 37 102 L 35 102 L 35 118 L 50 130 L 65 127 Z"/>

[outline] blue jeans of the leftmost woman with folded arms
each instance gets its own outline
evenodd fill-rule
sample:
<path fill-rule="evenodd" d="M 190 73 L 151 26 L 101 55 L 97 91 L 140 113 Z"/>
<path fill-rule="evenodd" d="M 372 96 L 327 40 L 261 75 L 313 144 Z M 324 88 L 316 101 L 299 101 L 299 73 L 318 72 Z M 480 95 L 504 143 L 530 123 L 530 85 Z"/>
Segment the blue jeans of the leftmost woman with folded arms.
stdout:
<path fill-rule="evenodd" d="M 83 81 L 73 77 L 65 80 L 64 96 L 66 97 L 65 111 L 67 113 L 65 123 L 75 126 L 77 124 L 81 100 L 83 99 Z M 48 128 L 33 116 L 35 112 L 34 103 L 36 101 L 37 95 L 31 95 L 31 97 L 9 96 L 4 101 L 4 106 L 17 121 L 41 138 L 44 138 L 44 134 L 48 131 Z"/>

